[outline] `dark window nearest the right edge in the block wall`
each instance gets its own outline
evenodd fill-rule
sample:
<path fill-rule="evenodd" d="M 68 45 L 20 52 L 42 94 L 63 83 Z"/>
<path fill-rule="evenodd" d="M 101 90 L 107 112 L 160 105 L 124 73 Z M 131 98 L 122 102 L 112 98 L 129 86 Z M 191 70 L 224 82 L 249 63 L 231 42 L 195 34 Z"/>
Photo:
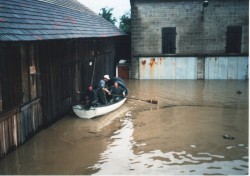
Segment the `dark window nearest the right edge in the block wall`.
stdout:
<path fill-rule="evenodd" d="M 228 26 L 227 27 L 227 43 L 226 53 L 240 53 L 241 52 L 241 26 Z"/>

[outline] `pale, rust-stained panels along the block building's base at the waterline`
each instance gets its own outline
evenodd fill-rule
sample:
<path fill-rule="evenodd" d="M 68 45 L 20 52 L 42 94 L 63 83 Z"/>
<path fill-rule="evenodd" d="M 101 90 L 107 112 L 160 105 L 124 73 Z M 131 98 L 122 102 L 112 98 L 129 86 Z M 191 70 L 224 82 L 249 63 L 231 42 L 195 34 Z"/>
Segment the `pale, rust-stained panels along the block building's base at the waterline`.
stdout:
<path fill-rule="evenodd" d="M 139 79 L 247 79 L 248 57 L 139 57 Z M 204 63 L 201 63 L 204 62 Z"/>

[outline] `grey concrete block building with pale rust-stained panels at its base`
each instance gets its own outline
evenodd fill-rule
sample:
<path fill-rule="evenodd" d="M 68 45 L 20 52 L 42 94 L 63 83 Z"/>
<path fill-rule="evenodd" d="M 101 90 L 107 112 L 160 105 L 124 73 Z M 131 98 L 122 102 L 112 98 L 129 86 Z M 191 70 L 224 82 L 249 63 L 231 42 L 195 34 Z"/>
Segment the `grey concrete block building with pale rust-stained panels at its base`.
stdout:
<path fill-rule="evenodd" d="M 248 0 L 130 0 L 131 78 L 248 79 Z"/>

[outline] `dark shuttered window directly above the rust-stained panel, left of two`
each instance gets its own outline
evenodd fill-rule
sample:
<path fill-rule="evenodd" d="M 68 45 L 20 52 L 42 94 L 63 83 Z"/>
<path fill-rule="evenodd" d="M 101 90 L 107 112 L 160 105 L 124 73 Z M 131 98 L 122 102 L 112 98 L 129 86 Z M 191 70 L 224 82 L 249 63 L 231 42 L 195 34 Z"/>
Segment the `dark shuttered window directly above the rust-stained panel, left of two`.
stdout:
<path fill-rule="evenodd" d="M 162 53 L 174 54 L 176 50 L 176 28 L 165 27 L 162 28 Z"/>

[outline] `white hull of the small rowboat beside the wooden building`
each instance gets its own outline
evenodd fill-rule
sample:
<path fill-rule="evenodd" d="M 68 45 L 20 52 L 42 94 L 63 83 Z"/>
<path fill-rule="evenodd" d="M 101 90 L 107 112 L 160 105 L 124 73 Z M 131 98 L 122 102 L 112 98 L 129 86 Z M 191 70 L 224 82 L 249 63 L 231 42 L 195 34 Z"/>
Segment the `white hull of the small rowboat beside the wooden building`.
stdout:
<path fill-rule="evenodd" d="M 122 100 L 108 104 L 106 106 L 97 106 L 97 107 L 91 107 L 90 109 L 86 110 L 84 109 L 83 105 L 75 105 L 73 106 L 74 113 L 80 117 L 85 119 L 91 119 L 93 117 L 101 116 L 104 114 L 107 114 L 109 112 L 112 112 L 116 110 L 117 108 L 121 107 L 127 98 L 123 98 Z"/>

